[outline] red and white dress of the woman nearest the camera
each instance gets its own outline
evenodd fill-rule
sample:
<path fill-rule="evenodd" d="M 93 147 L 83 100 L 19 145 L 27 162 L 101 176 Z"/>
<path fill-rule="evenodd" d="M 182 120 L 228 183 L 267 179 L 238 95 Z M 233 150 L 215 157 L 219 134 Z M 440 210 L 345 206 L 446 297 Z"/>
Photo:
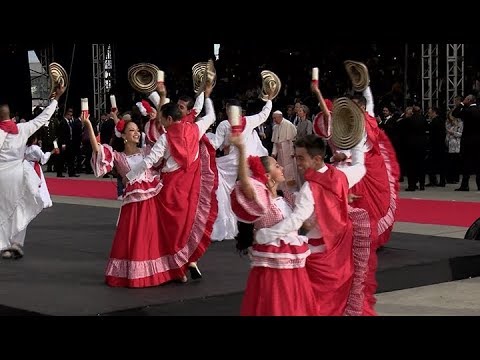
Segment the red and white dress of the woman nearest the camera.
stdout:
<path fill-rule="evenodd" d="M 245 198 L 240 185 L 232 194 L 232 209 L 240 221 L 255 229 L 271 227 L 292 213 L 293 198 L 272 199 L 266 186 L 252 179 L 255 199 Z M 316 316 L 317 302 L 305 261 L 310 250 L 305 236 L 294 231 L 268 244 L 254 243 L 251 266 L 242 301 L 242 316 Z"/>

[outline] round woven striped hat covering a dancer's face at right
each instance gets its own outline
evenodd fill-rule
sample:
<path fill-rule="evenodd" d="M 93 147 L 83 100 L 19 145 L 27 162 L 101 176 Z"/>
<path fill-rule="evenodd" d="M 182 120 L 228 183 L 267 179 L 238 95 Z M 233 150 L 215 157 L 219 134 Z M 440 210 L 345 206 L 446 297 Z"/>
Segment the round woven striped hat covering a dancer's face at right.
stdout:
<path fill-rule="evenodd" d="M 339 149 L 347 150 L 363 138 L 365 115 L 352 100 L 341 97 L 333 103 L 332 142 Z"/>

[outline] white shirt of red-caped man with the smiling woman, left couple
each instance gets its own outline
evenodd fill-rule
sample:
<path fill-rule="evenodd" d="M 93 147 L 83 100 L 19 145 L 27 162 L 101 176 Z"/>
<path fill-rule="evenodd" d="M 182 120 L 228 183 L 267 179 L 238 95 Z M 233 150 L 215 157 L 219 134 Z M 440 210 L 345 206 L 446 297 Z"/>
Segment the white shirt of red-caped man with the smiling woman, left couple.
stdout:
<path fill-rule="evenodd" d="M 207 132 L 208 128 L 215 121 L 215 111 L 213 109 L 212 100 L 209 98 L 205 101 L 205 111 L 206 114 L 203 118 L 200 118 L 195 125 L 198 126 L 198 140 Z M 166 159 L 165 166 L 162 168 L 162 172 L 172 172 L 180 168 L 178 163 L 170 154 L 170 149 L 168 146 L 167 135 L 162 134 L 155 145 L 152 147 L 150 154 L 145 157 L 145 159 L 140 162 L 135 168 L 130 170 L 127 173 L 126 177 L 129 181 L 133 181 L 136 178 L 140 177 L 145 170 L 151 168 L 154 164 L 158 163 L 162 159 Z M 198 159 L 198 151 L 195 155 L 195 160 Z"/>

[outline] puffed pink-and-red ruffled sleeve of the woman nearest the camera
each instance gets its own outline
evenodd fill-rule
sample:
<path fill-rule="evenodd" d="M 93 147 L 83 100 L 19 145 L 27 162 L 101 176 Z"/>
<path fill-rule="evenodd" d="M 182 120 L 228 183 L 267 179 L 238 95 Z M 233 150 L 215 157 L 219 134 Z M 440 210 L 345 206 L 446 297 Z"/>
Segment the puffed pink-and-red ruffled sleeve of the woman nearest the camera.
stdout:
<path fill-rule="evenodd" d="M 238 219 L 245 223 L 252 223 L 264 216 L 271 206 L 268 189 L 261 182 L 250 178 L 255 191 L 255 198 L 249 200 L 245 197 L 239 182 L 230 194 L 232 210 Z"/>

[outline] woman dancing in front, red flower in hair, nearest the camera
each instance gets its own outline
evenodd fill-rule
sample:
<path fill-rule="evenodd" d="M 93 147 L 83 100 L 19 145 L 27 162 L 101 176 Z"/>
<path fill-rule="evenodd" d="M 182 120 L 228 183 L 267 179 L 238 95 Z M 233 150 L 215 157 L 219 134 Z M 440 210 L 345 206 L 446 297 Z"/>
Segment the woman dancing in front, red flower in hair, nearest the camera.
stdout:
<path fill-rule="evenodd" d="M 239 178 L 232 194 L 232 209 L 243 223 L 255 229 L 270 227 L 288 217 L 294 205 L 293 196 L 278 196 L 277 186 L 285 182 L 283 168 L 272 157 L 250 156 L 248 176 L 245 145 L 241 136 L 231 143 L 239 150 Z M 253 243 L 253 233 L 240 229 L 237 248 L 251 246 L 250 271 L 243 297 L 243 316 L 315 316 L 315 295 L 305 270 L 310 255 L 307 238 L 292 232 L 268 244 Z M 253 244 L 252 244 L 253 243 Z"/>

